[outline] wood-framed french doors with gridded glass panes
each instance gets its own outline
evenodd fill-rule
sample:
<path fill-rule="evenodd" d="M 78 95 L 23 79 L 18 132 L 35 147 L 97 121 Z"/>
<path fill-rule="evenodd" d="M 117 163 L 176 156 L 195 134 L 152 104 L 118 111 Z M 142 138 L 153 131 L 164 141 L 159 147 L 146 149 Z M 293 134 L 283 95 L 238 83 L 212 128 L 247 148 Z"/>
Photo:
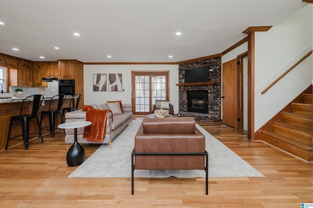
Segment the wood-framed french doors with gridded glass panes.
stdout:
<path fill-rule="evenodd" d="M 169 99 L 169 71 L 132 71 L 133 114 L 149 114 L 156 100 Z"/>

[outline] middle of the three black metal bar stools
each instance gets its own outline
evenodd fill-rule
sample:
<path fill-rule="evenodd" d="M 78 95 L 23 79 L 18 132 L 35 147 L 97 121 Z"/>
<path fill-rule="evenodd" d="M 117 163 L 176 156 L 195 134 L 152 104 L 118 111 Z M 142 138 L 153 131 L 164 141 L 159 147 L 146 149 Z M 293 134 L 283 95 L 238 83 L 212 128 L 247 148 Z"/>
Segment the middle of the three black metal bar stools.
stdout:
<path fill-rule="evenodd" d="M 49 104 L 49 108 L 47 111 L 43 111 L 41 113 L 41 120 L 40 120 L 40 126 L 42 126 L 42 123 L 43 123 L 43 118 L 45 116 L 49 116 L 49 128 L 47 128 L 48 126 L 44 126 L 42 127 L 41 129 L 42 130 L 50 130 L 50 133 L 52 135 L 52 138 L 54 137 L 54 126 L 55 126 L 55 115 L 56 114 L 60 114 L 60 117 L 61 117 L 61 124 L 63 124 L 63 114 L 62 114 L 62 111 L 61 111 L 61 108 L 62 108 L 62 105 L 64 104 L 65 102 L 65 99 L 66 99 L 66 95 L 64 94 L 60 94 L 60 95 L 55 95 L 53 96 L 51 99 L 50 99 L 50 104 Z M 58 106 L 57 106 L 57 109 L 53 110 L 51 109 L 51 104 L 52 104 L 52 101 L 55 100 L 55 98 L 58 98 Z"/>

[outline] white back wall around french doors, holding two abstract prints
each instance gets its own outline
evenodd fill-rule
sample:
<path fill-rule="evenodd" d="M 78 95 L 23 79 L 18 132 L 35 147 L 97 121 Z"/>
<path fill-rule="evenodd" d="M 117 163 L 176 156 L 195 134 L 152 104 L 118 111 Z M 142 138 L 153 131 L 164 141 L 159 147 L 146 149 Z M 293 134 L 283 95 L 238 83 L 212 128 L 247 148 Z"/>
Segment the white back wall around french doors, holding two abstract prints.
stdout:
<path fill-rule="evenodd" d="M 174 105 L 174 112 L 179 109 L 179 83 L 177 64 L 112 64 L 112 65 L 84 65 L 84 104 L 100 104 L 106 101 L 121 100 L 122 103 L 132 103 L 132 71 L 169 71 L 170 72 L 170 101 Z M 107 74 L 107 84 L 109 74 L 122 74 L 122 88 L 124 91 L 112 92 L 93 91 L 93 74 Z"/>

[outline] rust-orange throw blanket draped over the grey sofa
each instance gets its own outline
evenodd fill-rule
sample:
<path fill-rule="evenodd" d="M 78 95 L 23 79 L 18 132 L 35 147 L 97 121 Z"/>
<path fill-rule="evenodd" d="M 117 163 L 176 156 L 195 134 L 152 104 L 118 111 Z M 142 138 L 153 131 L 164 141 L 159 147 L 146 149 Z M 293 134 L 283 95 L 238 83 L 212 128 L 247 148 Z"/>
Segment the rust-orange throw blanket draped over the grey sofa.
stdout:
<path fill-rule="evenodd" d="M 84 129 L 83 138 L 87 141 L 102 142 L 106 134 L 107 116 L 111 110 L 90 109 L 86 113 L 86 121 L 92 124 L 86 126 Z M 112 115 L 113 121 L 113 115 Z"/>

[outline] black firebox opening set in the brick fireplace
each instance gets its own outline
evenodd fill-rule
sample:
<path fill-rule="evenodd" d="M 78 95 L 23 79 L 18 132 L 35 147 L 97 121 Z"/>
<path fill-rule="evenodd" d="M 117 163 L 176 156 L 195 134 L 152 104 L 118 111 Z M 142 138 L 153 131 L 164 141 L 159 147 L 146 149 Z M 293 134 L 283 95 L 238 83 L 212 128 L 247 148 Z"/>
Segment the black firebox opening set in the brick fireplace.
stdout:
<path fill-rule="evenodd" d="M 188 111 L 197 113 L 208 113 L 208 91 L 206 90 L 189 90 L 188 96 Z"/>

